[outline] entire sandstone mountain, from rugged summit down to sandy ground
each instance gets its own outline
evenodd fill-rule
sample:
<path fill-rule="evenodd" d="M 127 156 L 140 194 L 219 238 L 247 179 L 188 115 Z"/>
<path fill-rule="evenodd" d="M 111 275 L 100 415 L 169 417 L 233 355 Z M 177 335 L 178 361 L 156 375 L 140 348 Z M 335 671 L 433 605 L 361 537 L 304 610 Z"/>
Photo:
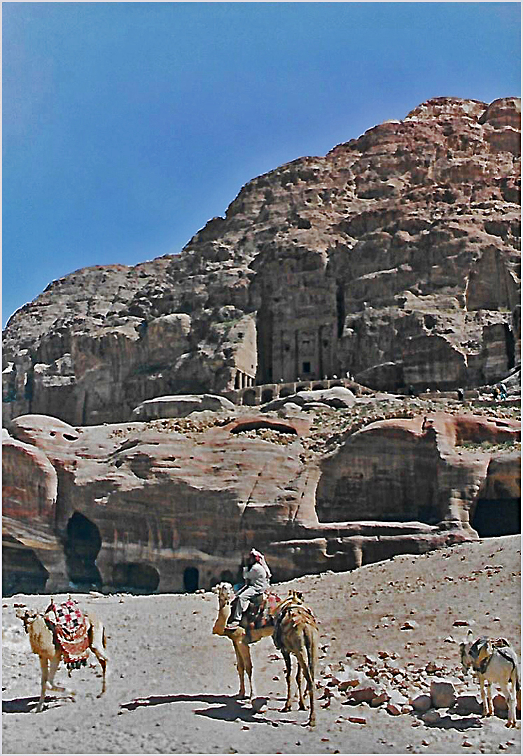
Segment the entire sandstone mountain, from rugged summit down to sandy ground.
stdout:
<path fill-rule="evenodd" d="M 17 311 L 4 592 L 192 591 L 252 545 L 286 580 L 519 532 L 519 123 L 515 98 L 436 98 L 249 181 L 179 255 Z M 506 376 L 503 404 L 477 390 Z"/>

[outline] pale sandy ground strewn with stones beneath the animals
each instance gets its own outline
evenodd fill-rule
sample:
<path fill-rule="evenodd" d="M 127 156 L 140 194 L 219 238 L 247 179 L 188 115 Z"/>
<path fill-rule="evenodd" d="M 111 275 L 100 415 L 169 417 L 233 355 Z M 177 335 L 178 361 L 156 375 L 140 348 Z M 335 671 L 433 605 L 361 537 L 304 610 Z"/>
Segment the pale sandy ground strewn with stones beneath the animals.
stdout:
<path fill-rule="evenodd" d="M 521 653 L 521 539 L 485 539 L 423 556 L 396 556 L 355 572 L 326 573 L 280 584 L 298 587 L 320 621 L 322 652 L 317 727 L 307 713 L 279 709 L 285 696 L 283 660 L 270 638 L 252 646 L 255 693 L 264 712 L 238 701 L 230 640 L 213 636 L 213 593 L 162 596 L 76 596 L 107 626 L 108 689 L 97 699 L 97 662 L 73 671 L 60 667 L 57 683 L 76 689 L 76 700 L 49 693 L 40 714 L 39 662 L 15 617 L 15 604 L 44 609 L 48 596 L 3 600 L 2 723 L 4 753 L 519 753 L 521 730 L 505 720 L 440 711 L 437 725 L 419 714 L 392 716 L 384 708 L 348 705 L 346 696 L 320 698 L 325 668 L 357 668 L 367 654 L 386 651 L 429 692 L 420 673 L 434 662 L 457 692 L 478 686 L 460 680 L 457 642 L 468 622 L 478 637 L 503 635 Z M 57 596 L 56 598 L 60 598 Z M 415 620 L 412 630 L 401 630 Z M 391 656 L 389 656 L 389 659 Z M 327 670 L 328 672 L 328 670 Z M 421 674 L 421 677 L 420 677 Z M 423 674 L 425 677 L 423 677 Z M 414 687 L 413 687 L 414 691 Z M 350 722 L 361 717 L 365 723 Z"/>

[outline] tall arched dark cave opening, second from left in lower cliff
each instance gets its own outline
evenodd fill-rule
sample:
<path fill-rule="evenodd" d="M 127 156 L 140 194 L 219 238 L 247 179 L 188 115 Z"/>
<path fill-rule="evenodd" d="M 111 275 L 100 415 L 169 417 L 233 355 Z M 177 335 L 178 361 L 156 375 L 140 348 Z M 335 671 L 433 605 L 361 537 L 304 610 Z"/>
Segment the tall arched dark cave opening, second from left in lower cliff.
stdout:
<path fill-rule="evenodd" d="M 102 539 L 94 522 L 75 512 L 67 523 L 67 537 L 63 544 L 67 575 L 74 587 L 101 588 L 102 578 L 96 566 Z"/>

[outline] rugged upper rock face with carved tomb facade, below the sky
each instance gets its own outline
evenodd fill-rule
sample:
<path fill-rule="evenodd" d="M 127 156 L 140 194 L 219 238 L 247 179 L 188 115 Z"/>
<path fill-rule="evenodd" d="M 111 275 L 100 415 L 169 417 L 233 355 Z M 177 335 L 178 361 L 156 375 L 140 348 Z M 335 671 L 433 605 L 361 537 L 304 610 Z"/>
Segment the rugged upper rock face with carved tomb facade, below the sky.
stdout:
<path fill-rule="evenodd" d="M 520 101 L 436 98 L 249 181 L 178 256 L 51 283 L 4 335 L 5 417 L 350 372 L 499 380 L 520 359 Z"/>

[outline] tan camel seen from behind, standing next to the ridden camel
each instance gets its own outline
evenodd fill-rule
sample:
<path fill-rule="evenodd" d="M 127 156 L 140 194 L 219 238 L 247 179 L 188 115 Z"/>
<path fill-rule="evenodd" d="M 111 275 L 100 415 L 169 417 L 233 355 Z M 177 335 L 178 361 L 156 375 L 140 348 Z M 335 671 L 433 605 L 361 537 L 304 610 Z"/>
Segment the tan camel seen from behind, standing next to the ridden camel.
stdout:
<path fill-rule="evenodd" d="M 316 724 L 316 713 L 314 711 L 314 670 L 317 663 L 317 649 L 320 639 L 320 631 L 317 628 L 316 620 L 312 609 L 303 603 L 302 593 L 296 590 L 289 590 L 289 596 L 284 599 L 277 607 L 274 622 L 274 646 L 283 654 L 285 661 L 285 677 L 287 683 L 287 699 L 282 711 L 290 711 L 290 676 L 291 676 L 291 658 L 290 655 L 296 656 L 298 670 L 296 672 L 296 683 L 298 684 L 299 708 L 305 710 L 305 702 L 302 694 L 302 675 L 307 683 L 309 696 L 309 719 L 307 726 L 314 727 Z"/>

